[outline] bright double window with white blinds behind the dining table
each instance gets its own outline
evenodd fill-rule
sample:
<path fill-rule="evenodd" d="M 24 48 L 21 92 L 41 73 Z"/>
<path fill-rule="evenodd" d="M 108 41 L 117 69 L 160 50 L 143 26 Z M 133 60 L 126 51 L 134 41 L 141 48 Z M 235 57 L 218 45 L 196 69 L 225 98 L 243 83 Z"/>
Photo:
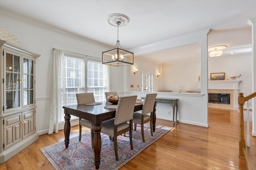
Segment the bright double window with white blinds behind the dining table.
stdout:
<path fill-rule="evenodd" d="M 77 104 L 77 93 L 94 93 L 96 102 L 105 100 L 106 65 L 98 61 L 87 61 L 76 57 L 64 57 L 66 69 L 66 105 Z M 85 70 L 86 69 L 86 70 Z M 87 80 L 85 74 L 87 72 Z M 86 86 L 87 85 L 87 86 Z"/>

